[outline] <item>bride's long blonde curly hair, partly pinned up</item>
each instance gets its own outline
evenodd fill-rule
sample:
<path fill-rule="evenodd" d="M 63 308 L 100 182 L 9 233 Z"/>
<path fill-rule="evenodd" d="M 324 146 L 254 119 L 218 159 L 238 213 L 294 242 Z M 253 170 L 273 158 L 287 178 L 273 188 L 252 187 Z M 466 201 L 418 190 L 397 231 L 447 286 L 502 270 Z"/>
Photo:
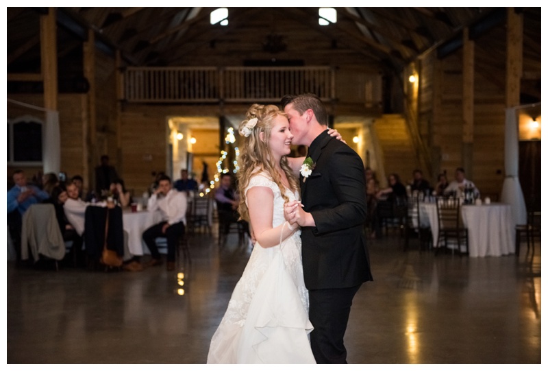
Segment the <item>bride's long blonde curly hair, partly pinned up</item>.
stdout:
<path fill-rule="evenodd" d="M 238 212 L 240 213 L 240 217 L 247 221 L 249 221 L 249 210 L 245 204 L 245 188 L 249 184 L 251 176 L 259 171 L 266 172 L 279 187 L 284 201 L 289 201 L 285 195 L 282 178 L 276 170 L 276 164 L 272 160 L 272 154 L 269 148 L 271 130 L 274 125 L 273 121 L 277 116 L 287 117 L 284 111 L 279 110 L 277 106 L 272 104 L 267 106 L 253 104 L 245 114 L 246 119 L 240 123 L 239 132 L 242 134 L 244 132 L 249 132 L 249 130 L 245 130 L 244 127 L 250 120 L 255 118 L 258 120 L 256 125 L 251 128 L 251 133 L 244 138 L 243 147 L 240 148 L 240 156 L 238 158 L 238 166 L 240 167 L 240 170 L 237 173 L 238 193 L 240 195 Z M 247 128 L 249 129 L 249 125 Z M 260 133 L 264 133 L 262 134 L 263 140 L 260 139 Z M 284 173 L 286 173 L 291 190 L 297 191 L 299 183 L 297 182 L 297 178 L 292 174 L 286 156 L 282 157 L 280 165 L 282 170 L 284 170 Z"/>

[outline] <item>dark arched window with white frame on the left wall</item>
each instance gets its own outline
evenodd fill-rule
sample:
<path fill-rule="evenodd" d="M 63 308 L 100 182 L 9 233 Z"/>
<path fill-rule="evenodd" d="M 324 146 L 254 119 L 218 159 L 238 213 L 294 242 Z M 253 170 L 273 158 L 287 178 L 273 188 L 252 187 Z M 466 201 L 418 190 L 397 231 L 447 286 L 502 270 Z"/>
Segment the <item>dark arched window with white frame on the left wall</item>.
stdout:
<path fill-rule="evenodd" d="M 42 165 L 42 128 L 36 117 L 8 120 L 8 163 Z"/>

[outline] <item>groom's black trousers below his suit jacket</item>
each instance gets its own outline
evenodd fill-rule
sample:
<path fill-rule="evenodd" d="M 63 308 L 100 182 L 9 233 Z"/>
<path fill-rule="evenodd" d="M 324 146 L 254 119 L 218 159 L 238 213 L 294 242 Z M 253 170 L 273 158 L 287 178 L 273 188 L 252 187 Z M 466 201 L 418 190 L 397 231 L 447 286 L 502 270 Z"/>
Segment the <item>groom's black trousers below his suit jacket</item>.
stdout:
<path fill-rule="evenodd" d="M 360 285 L 345 289 L 317 289 L 308 291 L 308 316 L 314 330 L 310 345 L 316 363 L 347 363 L 343 339 L 347 329 L 352 299 Z"/>

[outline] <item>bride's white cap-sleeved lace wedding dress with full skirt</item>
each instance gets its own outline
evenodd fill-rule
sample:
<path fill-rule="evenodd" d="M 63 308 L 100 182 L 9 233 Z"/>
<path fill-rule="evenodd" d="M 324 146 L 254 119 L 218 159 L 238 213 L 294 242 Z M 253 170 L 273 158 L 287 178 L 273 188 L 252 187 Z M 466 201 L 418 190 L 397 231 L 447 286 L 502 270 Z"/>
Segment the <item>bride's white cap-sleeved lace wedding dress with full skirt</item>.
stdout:
<path fill-rule="evenodd" d="M 246 194 L 251 187 L 272 189 L 273 227 L 283 224 L 284 199 L 275 182 L 258 173 L 250 179 Z M 286 195 L 289 200 L 299 197 L 288 189 Z M 310 331 L 297 230 L 281 245 L 262 248 L 256 243 L 253 247 L 212 337 L 208 363 L 315 363 Z"/>

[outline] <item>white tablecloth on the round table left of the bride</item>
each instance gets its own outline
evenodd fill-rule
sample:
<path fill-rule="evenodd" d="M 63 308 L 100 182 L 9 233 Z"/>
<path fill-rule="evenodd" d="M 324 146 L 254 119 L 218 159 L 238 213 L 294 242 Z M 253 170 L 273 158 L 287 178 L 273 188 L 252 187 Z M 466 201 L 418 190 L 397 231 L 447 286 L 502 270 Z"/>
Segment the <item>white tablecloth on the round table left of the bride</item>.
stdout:
<path fill-rule="evenodd" d="M 132 213 L 131 210 L 123 213 L 123 228 L 127 232 L 127 247 L 133 255 L 142 256 L 150 254 L 145 241 L 142 240 L 142 232 L 147 228 L 162 222 L 162 213 L 160 211 L 137 211 Z"/>

